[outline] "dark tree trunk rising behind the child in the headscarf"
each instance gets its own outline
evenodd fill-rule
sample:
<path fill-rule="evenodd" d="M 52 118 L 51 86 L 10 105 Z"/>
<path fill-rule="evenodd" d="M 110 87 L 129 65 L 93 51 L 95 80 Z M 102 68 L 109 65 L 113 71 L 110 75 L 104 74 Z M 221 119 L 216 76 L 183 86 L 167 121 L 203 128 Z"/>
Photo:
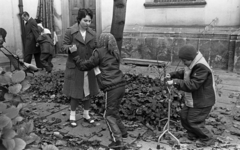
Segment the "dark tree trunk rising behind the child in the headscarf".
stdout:
<path fill-rule="evenodd" d="M 127 0 L 114 0 L 111 33 L 115 37 L 121 55 Z"/>

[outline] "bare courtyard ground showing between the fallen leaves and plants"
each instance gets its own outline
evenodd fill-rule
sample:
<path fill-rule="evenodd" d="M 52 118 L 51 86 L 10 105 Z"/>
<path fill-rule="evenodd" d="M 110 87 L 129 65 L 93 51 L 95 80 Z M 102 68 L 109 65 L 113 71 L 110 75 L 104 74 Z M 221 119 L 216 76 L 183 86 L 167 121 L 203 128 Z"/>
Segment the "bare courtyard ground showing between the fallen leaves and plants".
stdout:
<path fill-rule="evenodd" d="M 65 69 L 65 63 L 66 63 L 66 56 L 65 55 L 57 55 L 53 59 L 54 64 L 54 71 L 58 70 L 64 70 Z M 171 72 L 175 70 L 176 66 L 168 66 L 167 72 Z M 136 74 L 143 74 L 148 75 L 151 77 L 156 77 L 158 74 L 156 71 L 147 68 L 147 67 L 133 67 L 129 65 L 121 65 L 121 70 L 123 72 L 130 72 L 130 73 L 136 73 Z M 44 72 L 38 72 L 36 75 L 43 75 Z M 224 70 L 214 70 L 214 74 L 218 75 L 219 78 L 222 80 L 222 82 L 218 85 L 218 87 L 221 89 L 221 96 L 218 96 L 216 109 L 213 112 L 212 117 L 208 120 L 208 122 L 211 121 L 217 121 L 214 120 L 215 118 L 220 118 L 218 121 L 222 122 L 224 124 L 225 129 L 219 129 L 222 130 L 221 136 L 218 136 L 216 134 L 216 137 L 222 139 L 222 148 L 216 148 L 216 149 L 236 149 L 238 144 L 240 143 L 240 132 L 239 135 L 233 135 L 238 134 L 238 131 L 240 129 L 240 121 L 234 119 L 234 116 L 239 116 L 238 110 L 240 111 L 240 108 L 236 107 L 236 98 L 235 96 L 238 96 L 240 93 L 240 75 L 236 73 L 228 73 Z M 233 96 L 233 98 L 229 98 L 229 96 Z M 230 97 L 231 97 L 230 96 Z M 53 112 L 54 108 L 54 112 Z M 96 126 L 89 127 L 86 123 L 83 122 L 81 111 L 79 111 L 79 114 L 77 114 L 77 122 L 78 126 L 76 128 L 72 128 L 68 126 L 68 116 L 69 116 L 69 105 L 63 105 L 63 104 L 56 104 L 56 103 L 42 103 L 42 102 L 32 102 L 30 104 L 29 109 L 32 109 L 36 112 L 36 114 L 39 117 L 46 117 L 47 120 L 45 122 L 49 122 L 53 120 L 53 118 L 60 118 L 61 122 L 60 128 L 53 129 L 51 134 L 55 134 L 56 137 L 60 137 L 56 140 L 56 143 L 53 143 L 59 147 L 59 149 L 72 149 L 69 147 L 66 147 L 66 141 L 64 138 L 61 137 L 61 135 L 71 135 L 73 137 L 81 137 L 82 139 L 88 140 L 88 141 L 94 141 L 99 140 L 101 141 L 101 145 L 108 145 L 110 143 L 109 139 L 109 133 L 106 130 L 106 124 L 103 121 L 102 116 L 97 116 L 98 124 Z M 213 132 L 218 132 L 219 130 L 216 130 L 209 126 L 209 128 Z M 158 131 L 149 131 L 149 128 L 139 126 L 139 128 L 129 131 L 130 136 L 127 140 L 125 140 L 126 143 L 130 143 L 134 141 L 138 135 L 143 135 L 143 133 L 147 134 L 148 132 L 155 132 L 155 135 L 160 135 L 161 132 Z M 59 136 L 60 135 L 60 136 Z M 144 135 L 143 135 L 144 136 Z M 187 142 L 184 140 L 184 138 L 181 138 L 180 141 L 182 143 Z M 227 144 L 228 142 L 228 145 Z M 80 142 L 80 141 L 79 141 Z M 156 142 L 152 140 L 142 140 L 141 138 L 136 142 L 136 146 L 138 149 L 141 150 L 155 150 L 157 149 L 157 145 L 160 145 L 162 149 L 170 150 L 172 149 L 171 146 L 166 144 L 168 141 L 163 142 Z M 224 143 L 225 142 L 225 143 Z M 218 143 L 221 143 L 220 140 L 218 140 Z M 189 144 L 189 143 L 187 143 Z M 223 145 L 226 145 L 225 147 Z M 191 143 L 189 145 L 194 145 L 194 143 Z M 37 148 L 36 148 L 37 149 Z M 77 149 L 77 148 L 76 148 Z M 91 149 L 91 148 L 90 148 Z M 90 150 L 89 149 L 89 150 Z M 104 149 L 104 148 L 102 148 Z M 184 149 L 184 148 L 182 148 Z M 204 150 L 212 149 L 210 147 L 202 148 Z M 239 148 L 240 149 L 240 148 Z"/>

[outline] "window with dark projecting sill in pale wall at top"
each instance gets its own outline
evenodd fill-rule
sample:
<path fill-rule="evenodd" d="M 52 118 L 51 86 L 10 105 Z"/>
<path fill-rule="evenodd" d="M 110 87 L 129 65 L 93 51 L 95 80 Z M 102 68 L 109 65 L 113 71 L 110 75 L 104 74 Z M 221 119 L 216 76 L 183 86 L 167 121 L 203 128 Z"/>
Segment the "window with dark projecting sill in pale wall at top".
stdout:
<path fill-rule="evenodd" d="M 205 0 L 147 0 L 145 7 L 206 5 Z"/>

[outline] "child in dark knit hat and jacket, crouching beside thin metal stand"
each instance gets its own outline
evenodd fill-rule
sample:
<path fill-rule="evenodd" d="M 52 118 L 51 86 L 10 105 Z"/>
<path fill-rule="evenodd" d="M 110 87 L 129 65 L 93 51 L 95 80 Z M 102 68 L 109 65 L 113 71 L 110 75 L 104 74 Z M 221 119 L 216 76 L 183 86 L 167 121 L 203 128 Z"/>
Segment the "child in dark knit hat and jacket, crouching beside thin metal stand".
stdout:
<path fill-rule="evenodd" d="M 213 145 L 215 139 L 205 127 L 205 120 L 216 100 L 212 69 L 201 52 L 192 45 L 181 47 L 178 56 L 185 68 L 168 74 L 167 78 L 173 80 L 167 81 L 167 84 L 185 92 L 185 106 L 180 113 L 181 124 L 187 130 L 188 139 L 197 140 L 197 146 Z"/>

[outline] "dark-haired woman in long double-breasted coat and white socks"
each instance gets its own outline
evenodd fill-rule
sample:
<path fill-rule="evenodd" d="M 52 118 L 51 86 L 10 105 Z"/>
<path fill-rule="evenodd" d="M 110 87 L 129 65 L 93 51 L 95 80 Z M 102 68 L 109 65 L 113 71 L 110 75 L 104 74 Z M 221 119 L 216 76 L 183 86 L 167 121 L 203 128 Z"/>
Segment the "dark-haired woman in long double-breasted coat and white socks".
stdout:
<path fill-rule="evenodd" d="M 88 59 L 96 47 L 96 33 L 89 28 L 93 18 L 90 9 L 80 8 L 78 10 L 77 23 L 66 30 L 62 50 L 70 54 L 70 49 L 75 49 L 82 59 Z M 80 71 L 73 57 L 68 55 L 63 93 L 71 98 L 70 125 L 76 127 L 76 108 L 79 101 L 83 105 L 83 118 L 89 123 L 94 119 L 89 115 L 91 106 L 90 97 L 98 94 L 99 88 L 93 70 Z"/>

